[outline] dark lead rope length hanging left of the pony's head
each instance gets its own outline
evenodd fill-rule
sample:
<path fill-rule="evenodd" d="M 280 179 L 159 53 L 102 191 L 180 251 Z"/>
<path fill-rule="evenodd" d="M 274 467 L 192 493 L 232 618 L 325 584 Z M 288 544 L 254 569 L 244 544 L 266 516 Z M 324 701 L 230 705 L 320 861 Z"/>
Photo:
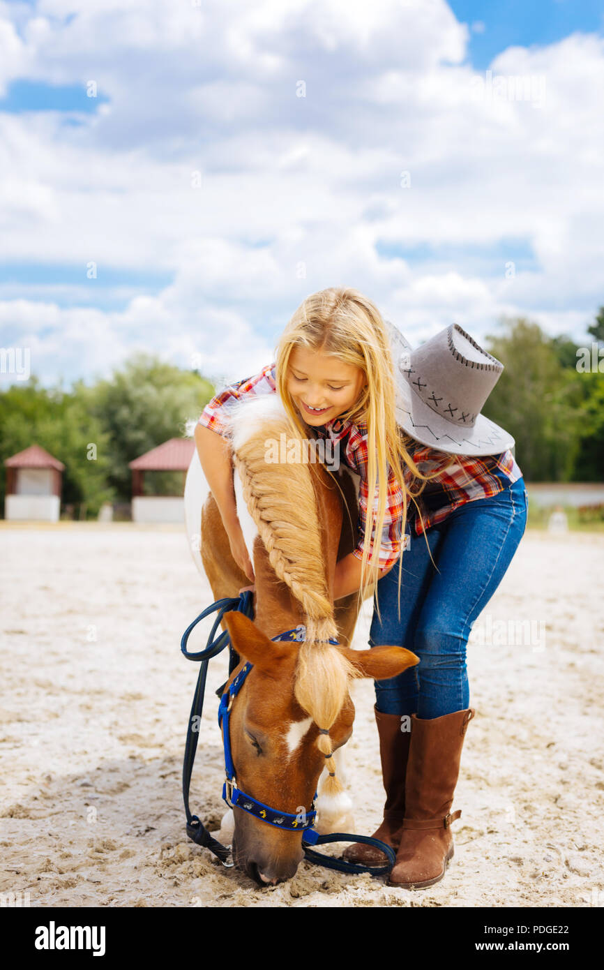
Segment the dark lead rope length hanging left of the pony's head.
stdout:
<path fill-rule="evenodd" d="M 197 751 L 197 742 L 199 740 L 199 730 L 202 723 L 202 712 L 204 710 L 204 695 L 206 694 L 206 678 L 207 678 L 207 663 L 212 657 L 217 657 L 218 654 L 231 645 L 231 637 L 228 631 L 223 630 L 219 636 L 214 639 L 214 634 L 218 629 L 219 624 L 225 613 L 231 612 L 233 610 L 239 613 L 244 613 L 248 616 L 250 620 L 253 619 L 254 609 L 252 605 L 252 591 L 246 590 L 244 593 L 240 593 L 238 597 L 225 597 L 222 599 L 217 599 L 216 602 L 208 606 L 196 620 L 191 623 L 187 629 L 182 634 L 182 639 L 180 640 L 180 650 L 182 654 L 188 661 L 194 661 L 200 664 L 200 672 L 197 678 L 197 685 L 195 687 L 195 694 L 193 695 L 193 703 L 191 705 L 191 713 L 189 715 L 189 723 L 187 726 L 187 739 L 184 746 L 184 760 L 182 762 L 182 798 L 184 801 L 184 810 L 187 816 L 187 835 L 193 842 L 197 842 L 198 845 L 203 846 L 205 849 L 209 849 L 214 856 L 218 857 L 223 865 L 232 866 L 233 862 L 229 862 L 229 856 L 231 855 L 231 850 L 226 846 L 223 846 L 221 842 L 214 839 L 207 831 L 206 826 L 203 824 L 201 819 L 197 815 L 191 814 L 191 809 L 189 808 L 189 788 L 191 785 L 191 774 L 193 772 L 193 762 L 195 761 L 195 753 Z M 205 620 L 210 613 L 216 613 L 216 619 L 214 625 L 209 632 L 207 637 L 207 647 L 205 650 L 200 650 L 197 654 L 190 654 L 187 651 L 187 640 L 191 630 L 197 626 L 200 620 Z M 238 655 L 233 648 L 231 648 L 231 656 L 229 660 L 229 675 L 233 672 L 238 664 Z M 197 728 L 197 729 L 196 729 Z"/>

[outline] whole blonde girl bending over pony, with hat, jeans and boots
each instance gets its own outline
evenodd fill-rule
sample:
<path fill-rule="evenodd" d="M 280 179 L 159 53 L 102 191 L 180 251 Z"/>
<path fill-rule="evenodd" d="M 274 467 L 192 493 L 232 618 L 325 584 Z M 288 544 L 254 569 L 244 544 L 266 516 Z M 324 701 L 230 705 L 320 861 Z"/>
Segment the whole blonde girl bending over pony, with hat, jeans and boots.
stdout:
<path fill-rule="evenodd" d="M 234 559 L 252 581 L 221 437 L 230 404 L 278 392 L 302 435 L 339 442 L 340 461 L 360 475 L 360 540 L 336 565 L 334 599 L 361 596 L 379 579 L 370 645 L 397 644 L 420 657 L 419 667 L 375 683 L 387 794 L 375 836 L 397 849 L 391 885 L 422 888 L 442 879 L 453 856 L 450 824 L 461 813 L 450 808 L 474 714 L 465 644 L 524 533 L 526 493 L 513 438 L 480 414 L 499 362 L 459 327 L 408 349 L 357 290 L 313 294 L 286 327 L 274 364 L 213 398 L 195 439 Z M 344 855 L 383 861 L 368 846 Z"/>

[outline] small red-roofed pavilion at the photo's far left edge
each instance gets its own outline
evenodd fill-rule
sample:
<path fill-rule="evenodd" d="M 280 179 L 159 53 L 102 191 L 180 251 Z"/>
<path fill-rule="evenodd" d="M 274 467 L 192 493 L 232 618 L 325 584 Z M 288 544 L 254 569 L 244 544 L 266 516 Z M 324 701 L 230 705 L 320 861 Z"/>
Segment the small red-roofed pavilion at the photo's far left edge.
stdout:
<path fill-rule="evenodd" d="M 39 444 L 5 458 L 5 519 L 58 522 L 65 466 Z"/>

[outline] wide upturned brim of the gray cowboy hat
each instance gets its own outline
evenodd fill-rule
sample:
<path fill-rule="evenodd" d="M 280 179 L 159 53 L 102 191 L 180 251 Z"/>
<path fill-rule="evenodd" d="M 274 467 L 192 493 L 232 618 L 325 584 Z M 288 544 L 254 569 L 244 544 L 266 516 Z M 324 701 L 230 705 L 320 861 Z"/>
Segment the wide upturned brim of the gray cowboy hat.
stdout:
<path fill-rule="evenodd" d="M 421 444 L 450 455 L 498 455 L 515 444 L 499 425 L 479 414 L 473 428 L 460 428 L 435 414 L 400 375 L 397 380 L 397 424 Z"/>

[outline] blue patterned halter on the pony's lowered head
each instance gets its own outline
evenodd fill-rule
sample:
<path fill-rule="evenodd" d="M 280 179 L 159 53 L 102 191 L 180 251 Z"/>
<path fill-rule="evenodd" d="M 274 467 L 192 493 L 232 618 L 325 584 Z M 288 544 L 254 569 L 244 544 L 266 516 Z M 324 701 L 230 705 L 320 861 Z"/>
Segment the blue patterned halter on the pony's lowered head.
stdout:
<path fill-rule="evenodd" d="M 278 636 L 273 636 L 272 640 L 301 641 L 304 639 L 304 635 L 305 630 L 301 624 L 295 630 L 286 630 L 284 633 L 279 633 Z M 337 640 L 331 639 L 330 643 L 337 644 Z M 218 724 L 222 725 L 224 763 L 227 775 L 227 780 L 222 787 L 222 797 L 226 801 L 227 805 L 229 805 L 231 808 L 235 808 L 236 806 L 238 808 L 242 808 L 244 812 L 249 812 L 250 815 L 254 815 L 257 819 L 262 819 L 263 822 L 268 822 L 270 825 L 275 825 L 277 828 L 286 828 L 292 832 L 300 832 L 308 828 L 313 828 L 317 817 L 314 807 L 317 792 L 314 793 L 312 804 L 309 810 L 307 812 L 299 812 L 296 815 L 293 812 L 279 812 L 274 808 L 270 808 L 270 805 L 265 805 L 264 802 L 258 801 L 258 799 L 254 798 L 252 795 L 241 792 L 241 790 L 237 787 L 235 765 L 233 763 L 233 756 L 231 754 L 229 719 L 231 708 L 233 707 L 233 701 L 245 683 L 245 678 L 252 669 L 252 665 L 252 663 L 246 663 L 241 670 L 239 670 L 237 677 L 232 684 L 229 685 L 228 692 L 225 692 L 220 698 L 220 707 L 218 708 Z"/>

